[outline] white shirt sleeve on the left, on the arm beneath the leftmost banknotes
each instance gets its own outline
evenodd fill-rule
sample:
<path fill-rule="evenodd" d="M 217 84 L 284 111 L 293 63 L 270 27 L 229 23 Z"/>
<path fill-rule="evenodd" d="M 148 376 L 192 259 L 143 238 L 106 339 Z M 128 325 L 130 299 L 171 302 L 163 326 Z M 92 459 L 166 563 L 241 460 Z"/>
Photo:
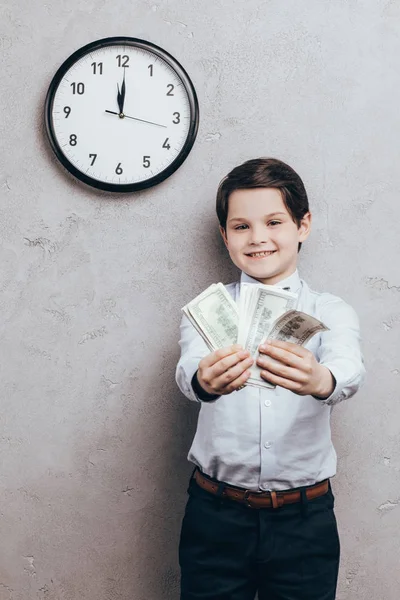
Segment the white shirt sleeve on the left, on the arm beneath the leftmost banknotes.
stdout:
<path fill-rule="evenodd" d="M 199 362 L 202 358 L 210 354 L 210 350 L 203 338 L 197 333 L 186 315 L 183 315 L 180 326 L 181 357 L 176 367 L 175 379 L 181 392 L 194 402 L 213 402 L 219 396 L 210 397 L 205 400 L 200 398 L 193 389 L 192 381 L 196 373 Z"/>

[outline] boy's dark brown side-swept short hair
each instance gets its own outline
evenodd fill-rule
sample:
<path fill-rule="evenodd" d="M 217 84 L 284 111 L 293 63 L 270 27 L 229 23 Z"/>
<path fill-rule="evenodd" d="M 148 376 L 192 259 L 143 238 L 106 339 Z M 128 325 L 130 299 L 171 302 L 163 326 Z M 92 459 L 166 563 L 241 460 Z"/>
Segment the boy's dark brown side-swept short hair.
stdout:
<path fill-rule="evenodd" d="M 302 218 L 309 211 L 307 192 L 300 176 L 276 158 L 254 158 L 232 169 L 218 186 L 217 215 L 223 229 L 226 229 L 232 192 L 259 187 L 279 190 L 289 214 L 300 227 Z"/>

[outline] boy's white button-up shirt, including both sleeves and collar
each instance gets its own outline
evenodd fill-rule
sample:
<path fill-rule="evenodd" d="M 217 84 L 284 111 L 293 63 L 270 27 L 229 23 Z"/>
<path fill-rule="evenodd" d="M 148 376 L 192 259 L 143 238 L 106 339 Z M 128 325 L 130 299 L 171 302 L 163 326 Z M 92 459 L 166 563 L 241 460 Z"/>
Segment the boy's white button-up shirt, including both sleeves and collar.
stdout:
<path fill-rule="evenodd" d="M 245 273 L 241 282 L 259 283 Z M 201 402 L 188 459 L 210 477 L 252 491 L 312 485 L 335 475 L 332 406 L 355 394 L 365 373 L 358 317 L 351 306 L 337 296 L 311 290 L 297 271 L 277 287 L 297 293 L 297 309 L 329 327 L 305 346 L 336 379 L 333 393 L 325 400 L 299 396 L 279 386 L 246 386 L 201 402 L 191 382 L 200 360 L 210 351 L 185 316 L 181 323 L 176 381 L 187 398 Z M 238 299 L 239 283 L 226 289 Z"/>

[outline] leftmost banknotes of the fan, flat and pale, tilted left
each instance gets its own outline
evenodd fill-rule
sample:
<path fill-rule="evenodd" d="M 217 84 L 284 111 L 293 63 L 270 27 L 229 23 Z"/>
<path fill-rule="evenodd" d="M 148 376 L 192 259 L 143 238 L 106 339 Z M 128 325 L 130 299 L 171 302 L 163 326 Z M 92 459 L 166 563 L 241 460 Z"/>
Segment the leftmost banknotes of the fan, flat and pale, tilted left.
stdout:
<path fill-rule="evenodd" d="M 182 308 L 211 351 L 236 344 L 238 307 L 222 283 L 213 283 Z"/>

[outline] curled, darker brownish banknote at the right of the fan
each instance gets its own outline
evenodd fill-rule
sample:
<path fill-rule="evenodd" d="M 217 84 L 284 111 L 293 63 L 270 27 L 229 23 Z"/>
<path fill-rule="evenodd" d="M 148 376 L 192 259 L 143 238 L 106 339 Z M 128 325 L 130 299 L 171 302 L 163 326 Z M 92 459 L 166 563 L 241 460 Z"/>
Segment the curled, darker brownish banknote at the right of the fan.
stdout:
<path fill-rule="evenodd" d="M 268 337 L 304 346 L 320 331 L 329 331 L 329 327 L 306 313 L 291 310 L 274 323 Z"/>

